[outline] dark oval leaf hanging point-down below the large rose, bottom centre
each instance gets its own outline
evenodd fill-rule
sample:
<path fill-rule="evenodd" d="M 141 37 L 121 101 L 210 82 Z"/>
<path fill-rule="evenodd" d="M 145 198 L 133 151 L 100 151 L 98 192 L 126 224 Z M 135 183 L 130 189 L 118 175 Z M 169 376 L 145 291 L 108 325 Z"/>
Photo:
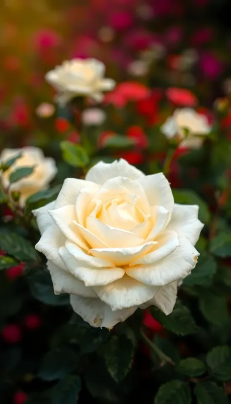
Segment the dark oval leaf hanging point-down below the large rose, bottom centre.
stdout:
<path fill-rule="evenodd" d="M 128 374 L 134 355 L 133 345 L 125 336 L 114 335 L 107 344 L 104 359 L 106 367 L 116 382 L 120 382 Z"/>

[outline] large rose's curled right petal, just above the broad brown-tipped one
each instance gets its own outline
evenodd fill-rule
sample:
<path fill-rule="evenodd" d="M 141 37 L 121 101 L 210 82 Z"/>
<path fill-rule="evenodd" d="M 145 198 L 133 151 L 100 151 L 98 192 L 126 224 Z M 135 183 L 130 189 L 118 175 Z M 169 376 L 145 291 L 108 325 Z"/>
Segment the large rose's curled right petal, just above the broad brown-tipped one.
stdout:
<path fill-rule="evenodd" d="M 152 247 L 152 251 L 138 259 L 132 260 L 129 267 L 154 264 L 154 262 L 167 257 L 180 245 L 178 235 L 175 231 L 163 231 L 155 241 L 157 244 Z"/>

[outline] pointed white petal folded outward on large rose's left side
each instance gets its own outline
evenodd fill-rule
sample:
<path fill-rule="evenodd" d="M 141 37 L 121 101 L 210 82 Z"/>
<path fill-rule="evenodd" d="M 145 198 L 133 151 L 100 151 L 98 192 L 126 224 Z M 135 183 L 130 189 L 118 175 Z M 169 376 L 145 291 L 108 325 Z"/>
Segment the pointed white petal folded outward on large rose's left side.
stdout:
<path fill-rule="evenodd" d="M 60 229 L 60 231 L 67 237 L 67 239 L 73 241 L 77 246 L 86 250 L 89 247 L 86 245 L 83 236 L 79 229 L 73 223 L 77 219 L 76 209 L 74 205 L 66 205 L 58 209 L 49 211 L 53 221 Z"/>

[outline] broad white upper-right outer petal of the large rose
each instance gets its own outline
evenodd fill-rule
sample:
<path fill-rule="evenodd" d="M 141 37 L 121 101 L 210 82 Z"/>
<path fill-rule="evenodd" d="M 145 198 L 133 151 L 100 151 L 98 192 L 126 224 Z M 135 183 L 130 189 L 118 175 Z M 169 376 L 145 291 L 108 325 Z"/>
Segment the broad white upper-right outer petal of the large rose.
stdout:
<path fill-rule="evenodd" d="M 163 206 L 172 212 L 174 206 L 172 190 L 163 173 L 142 177 L 138 182 L 142 185 L 150 206 Z"/>

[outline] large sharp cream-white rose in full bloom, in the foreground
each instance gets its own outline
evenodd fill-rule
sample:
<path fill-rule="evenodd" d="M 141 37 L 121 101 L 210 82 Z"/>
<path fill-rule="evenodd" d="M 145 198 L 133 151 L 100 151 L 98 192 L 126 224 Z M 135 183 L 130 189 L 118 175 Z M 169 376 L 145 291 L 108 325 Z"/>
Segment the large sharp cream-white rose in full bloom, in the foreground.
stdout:
<path fill-rule="evenodd" d="M 110 329 L 150 305 L 171 313 L 199 255 L 198 206 L 174 204 L 162 173 L 145 176 L 123 159 L 97 163 L 86 180 L 68 178 L 56 201 L 33 213 L 54 292 L 69 293 L 93 327 Z"/>

